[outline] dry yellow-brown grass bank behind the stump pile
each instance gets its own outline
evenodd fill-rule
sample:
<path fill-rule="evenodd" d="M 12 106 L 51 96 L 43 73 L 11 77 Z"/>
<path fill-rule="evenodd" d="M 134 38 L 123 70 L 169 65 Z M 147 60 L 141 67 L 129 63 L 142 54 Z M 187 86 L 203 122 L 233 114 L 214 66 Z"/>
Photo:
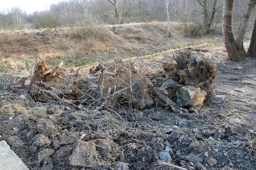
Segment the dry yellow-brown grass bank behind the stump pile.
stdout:
<path fill-rule="evenodd" d="M 112 32 L 111 27 L 118 27 Z M 164 22 L 122 25 L 87 25 L 0 32 L 0 68 L 3 73 L 28 72 L 33 61 L 48 65 L 63 61 L 64 67 L 77 67 L 114 58 L 150 55 L 176 47 L 221 43 L 222 37 L 190 39 L 182 35 L 182 24 L 174 23 L 168 38 Z M 214 41 L 210 41 L 210 40 Z"/>

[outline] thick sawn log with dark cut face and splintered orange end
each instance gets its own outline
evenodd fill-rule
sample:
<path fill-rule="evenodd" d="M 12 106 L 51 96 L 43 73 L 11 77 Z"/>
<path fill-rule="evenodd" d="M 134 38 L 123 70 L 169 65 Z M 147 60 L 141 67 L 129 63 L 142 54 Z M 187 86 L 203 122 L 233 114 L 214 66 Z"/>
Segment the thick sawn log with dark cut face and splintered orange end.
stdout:
<path fill-rule="evenodd" d="M 187 106 L 188 112 L 199 112 L 205 100 L 206 91 L 201 90 L 199 87 L 195 88 L 192 85 L 181 87 L 176 92 L 176 103 L 180 107 Z"/>

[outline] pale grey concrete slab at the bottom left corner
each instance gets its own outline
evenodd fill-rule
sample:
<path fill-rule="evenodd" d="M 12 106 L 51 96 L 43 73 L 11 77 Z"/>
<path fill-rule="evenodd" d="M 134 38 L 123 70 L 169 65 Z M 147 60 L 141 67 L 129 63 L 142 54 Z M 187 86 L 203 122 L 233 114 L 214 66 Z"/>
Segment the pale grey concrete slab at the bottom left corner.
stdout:
<path fill-rule="evenodd" d="M 0 170 L 29 170 L 5 140 L 0 141 Z"/>

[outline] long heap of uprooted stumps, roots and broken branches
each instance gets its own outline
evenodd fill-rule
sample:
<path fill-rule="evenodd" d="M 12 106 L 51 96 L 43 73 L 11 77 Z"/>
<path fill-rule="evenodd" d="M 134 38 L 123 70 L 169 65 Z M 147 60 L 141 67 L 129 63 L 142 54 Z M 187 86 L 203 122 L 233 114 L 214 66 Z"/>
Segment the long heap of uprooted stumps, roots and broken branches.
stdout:
<path fill-rule="evenodd" d="M 191 57 L 191 52 L 172 54 L 161 62 L 163 70 L 149 71 L 144 59 L 112 64 L 99 63 L 90 73 L 66 73 L 63 62 L 47 67 L 37 61 L 31 75 L 17 82 L 12 90 L 28 91 L 36 101 L 55 100 L 62 104 L 87 106 L 87 109 L 107 109 L 117 113 L 121 108 L 143 109 L 152 105 L 171 108 L 173 112 L 198 112 L 203 101 L 215 95 L 216 66 L 209 58 Z M 174 102 L 176 101 L 176 103 Z M 122 119 L 122 118 L 121 118 Z"/>

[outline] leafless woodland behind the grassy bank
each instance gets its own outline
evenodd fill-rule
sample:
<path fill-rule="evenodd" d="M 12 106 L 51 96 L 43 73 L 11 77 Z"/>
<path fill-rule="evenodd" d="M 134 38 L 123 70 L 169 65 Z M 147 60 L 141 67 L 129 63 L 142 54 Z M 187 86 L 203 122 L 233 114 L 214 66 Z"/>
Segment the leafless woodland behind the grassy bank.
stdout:
<path fill-rule="evenodd" d="M 168 4 L 167 4 L 168 3 Z M 166 5 L 167 4 L 167 5 Z M 239 31 L 248 0 L 234 0 L 234 31 Z M 168 7 L 168 8 L 167 8 Z M 167 10 L 168 9 L 168 10 Z M 170 22 L 183 24 L 189 36 L 202 35 L 202 30 L 221 33 L 223 0 L 61 0 L 50 9 L 26 13 L 19 7 L 2 9 L 0 29 L 39 29 L 84 27 L 89 24 L 123 24 L 138 22 Z M 255 9 L 252 16 L 255 16 Z M 251 25 L 254 17 L 251 17 Z M 250 27 L 252 30 L 252 26 Z"/>

